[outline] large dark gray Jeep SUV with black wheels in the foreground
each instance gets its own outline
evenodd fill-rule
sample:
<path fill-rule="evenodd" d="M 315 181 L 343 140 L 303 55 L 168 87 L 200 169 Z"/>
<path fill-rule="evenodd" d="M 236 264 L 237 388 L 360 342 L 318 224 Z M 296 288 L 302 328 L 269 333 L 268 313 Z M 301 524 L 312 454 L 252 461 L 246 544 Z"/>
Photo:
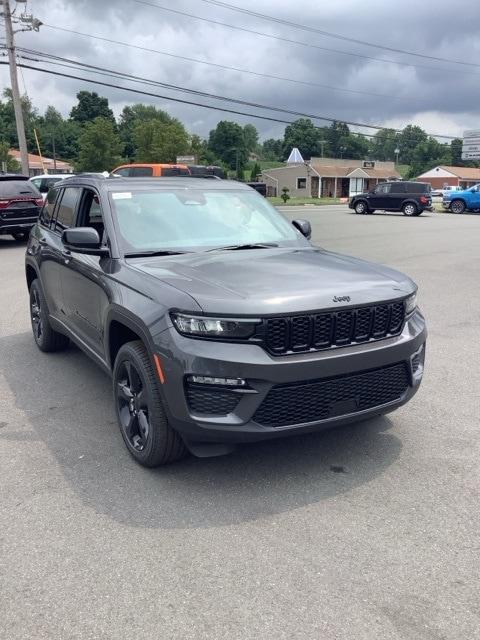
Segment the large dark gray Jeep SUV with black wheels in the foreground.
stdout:
<path fill-rule="evenodd" d="M 309 238 L 237 182 L 66 178 L 26 252 L 34 339 L 112 376 L 146 466 L 392 411 L 422 378 L 417 287 Z"/>

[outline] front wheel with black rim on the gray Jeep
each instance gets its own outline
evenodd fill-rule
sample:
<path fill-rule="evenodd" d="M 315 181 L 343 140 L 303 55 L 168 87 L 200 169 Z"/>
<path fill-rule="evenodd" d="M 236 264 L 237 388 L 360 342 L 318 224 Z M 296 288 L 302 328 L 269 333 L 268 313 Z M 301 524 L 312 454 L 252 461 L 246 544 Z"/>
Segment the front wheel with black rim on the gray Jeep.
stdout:
<path fill-rule="evenodd" d="M 124 344 L 117 354 L 113 399 L 123 440 L 139 464 L 158 467 L 185 456 L 187 449 L 168 424 L 157 374 L 139 340 Z"/>

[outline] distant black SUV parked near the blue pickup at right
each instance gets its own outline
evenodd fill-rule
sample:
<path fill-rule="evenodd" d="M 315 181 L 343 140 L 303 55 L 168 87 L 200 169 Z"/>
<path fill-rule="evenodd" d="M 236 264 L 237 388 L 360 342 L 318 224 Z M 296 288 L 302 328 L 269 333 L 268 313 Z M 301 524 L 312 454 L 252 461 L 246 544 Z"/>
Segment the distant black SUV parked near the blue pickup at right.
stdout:
<path fill-rule="evenodd" d="M 350 198 L 348 206 L 355 213 L 402 211 L 405 216 L 419 216 L 425 209 L 431 211 L 431 187 L 426 182 L 381 182 L 367 193 Z"/>

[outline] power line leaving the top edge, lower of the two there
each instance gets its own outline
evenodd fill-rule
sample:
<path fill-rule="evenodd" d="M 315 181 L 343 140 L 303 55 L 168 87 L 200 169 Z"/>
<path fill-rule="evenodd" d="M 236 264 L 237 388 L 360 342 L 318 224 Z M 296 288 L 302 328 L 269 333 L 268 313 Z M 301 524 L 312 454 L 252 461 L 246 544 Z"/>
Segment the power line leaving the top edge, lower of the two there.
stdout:
<path fill-rule="evenodd" d="M 168 11 L 170 13 L 174 13 L 176 15 L 185 16 L 187 18 L 193 18 L 194 20 L 201 20 L 202 22 L 209 22 L 210 24 L 216 24 L 221 27 L 227 27 L 228 29 L 236 29 L 237 31 L 243 31 L 245 33 L 252 33 L 256 36 L 261 36 L 262 38 L 270 38 L 273 40 L 279 40 L 280 42 L 287 42 L 288 44 L 298 44 L 302 47 L 308 47 L 310 49 L 316 49 L 318 51 L 326 51 L 328 53 L 338 53 L 344 56 L 351 56 L 353 58 L 364 58 L 365 60 L 374 60 L 375 62 L 382 62 L 384 64 L 396 64 L 403 67 L 417 67 L 420 69 L 428 69 L 430 71 L 441 71 L 443 73 L 465 73 L 469 75 L 480 75 L 473 71 L 464 71 L 458 69 L 443 69 L 441 67 L 430 67 L 423 64 L 415 64 L 413 62 L 399 62 L 398 60 L 390 60 L 387 58 L 374 58 L 373 56 L 367 56 L 361 53 L 353 53 L 351 51 L 342 51 L 340 49 L 331 49 L 329 47 L 320 47 L 319 45 L 312 44 L 309 42 L 301 42 L 300 40 L 292 40 L 291 38 L 284 38 L 282 36 L 273 35 L 271 33 L 264 33 L 263 31 L 255 31 L 253 29 L 247 29 L 246 27 L 240 27 L 238 25 L 227 24 L 226 22 L 220 22 L 219 20 L 213 20 L 211 18 L 203 18 L 201 16 L 196 16 L 192 13 L 187 13 L 185 11 L 179 11 L 178 9 L 171 9 L 170 7 L 164 7 L 162 5 L 148 2 L 147 0 L 133 0 L 137 4 L 142 4 L 147 7 L 153 7 L 154 9 L 160 9 L 161 11 Z"/>

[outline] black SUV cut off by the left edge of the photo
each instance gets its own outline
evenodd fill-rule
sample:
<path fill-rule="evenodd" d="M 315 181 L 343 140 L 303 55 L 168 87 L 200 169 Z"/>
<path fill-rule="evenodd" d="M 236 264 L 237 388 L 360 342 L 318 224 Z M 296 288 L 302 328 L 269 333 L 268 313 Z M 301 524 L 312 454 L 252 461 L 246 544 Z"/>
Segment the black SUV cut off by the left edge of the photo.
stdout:
<path fill-rule="evenodd" d="M 42 194 L 26 176 L 0 173 L 0 235 L 24 240 L 42 206 Z"/>

